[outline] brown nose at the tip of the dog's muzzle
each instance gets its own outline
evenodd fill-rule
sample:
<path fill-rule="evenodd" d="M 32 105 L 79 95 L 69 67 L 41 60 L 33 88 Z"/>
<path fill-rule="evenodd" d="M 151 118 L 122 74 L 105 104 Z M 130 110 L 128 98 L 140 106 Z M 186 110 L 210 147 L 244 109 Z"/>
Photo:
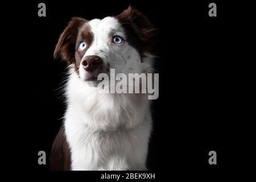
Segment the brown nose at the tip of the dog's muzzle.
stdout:
<path fill-rule="evenodd" d="M 99 56 L 86 56 L 84 60 L 82 60 L 82 67 L 88 71 L 93 72 L 100 65 L 103 64 L 103 60 Z"/>

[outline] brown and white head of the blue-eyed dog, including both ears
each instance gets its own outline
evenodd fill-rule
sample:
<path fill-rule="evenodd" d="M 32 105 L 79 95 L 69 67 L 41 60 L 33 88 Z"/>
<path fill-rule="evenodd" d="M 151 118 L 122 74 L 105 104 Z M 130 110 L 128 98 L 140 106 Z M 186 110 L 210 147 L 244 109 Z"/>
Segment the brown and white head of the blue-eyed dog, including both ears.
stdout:
<path fill-rule="evenodd" d="M 129 7 L 117 16 L 86 20 L 72 18 L 60 35 L 54 57 L 61 56 L 73 72 L 95 85 L 100 73 L 142 73 L 151 67 L 147 52 L 155 28 L 138 10 Z"/>

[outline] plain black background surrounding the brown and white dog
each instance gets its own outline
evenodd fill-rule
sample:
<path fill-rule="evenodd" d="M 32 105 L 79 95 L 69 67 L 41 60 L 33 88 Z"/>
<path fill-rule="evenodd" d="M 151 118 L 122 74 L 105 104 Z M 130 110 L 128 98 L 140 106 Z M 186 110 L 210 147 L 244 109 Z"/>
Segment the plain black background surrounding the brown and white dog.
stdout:
<path fill-rule="evenodd" d="M 240 158 L 238 143 L 247 149 L 246 140 L 241 141 L 243 127 L 237 123 L 245 120 L 241 119 L 245 105 L 238 97 L 243 67 L 237 61 L 241 56 L 237 43 L 241 35 L 246 36 L 242 31 L 247 19 L 238 8 L 244 10 L 245 5 L 231 1 L 42 1 L 47 16 L 39 17 L 40 2 L 14 3 L 6 13 L 10 20 L 5 29 L 13 30 L 14 38 L 10 46 L 19 47 L 15 61 L 6 67 L 6 71 L 17 70 L 8 76 L 15 83 L 8 82 L 8 88 L 15 90 L 6 90 L 14 96 L 6 105 L 12 110 L 7 113 L 13 130 L 9 134 L 14 135 L 8 142 L 7 152 L 13 155 L 7 159 L 10 166 L 18 161 L 15 168 L 19 170 L 49 170 L 48 161 L 38 165 L 38 151 L 46 151 L 48 159 L 65 110 L 59 88 L 67 65 L 53 60 L 53 51 L 67 22 L 73 16 L 117 15 L 129 5 L 159 29 L 154 53 L 159 56 L 155 68 L 160 93 L 152 105 L 154 131 L 148 168 L 170 178 L 178 172 L 212 177 L 246 160 L 246 156 Z M 208 16 L 210 2 L 217 4 L 217 17 Z M 14 14 L 16 9 L 21 13 Z M 13 55 L 11 51 L 9 57 Z M 217 152 L 215 166 L 208 163 L 211 150 Z"/>

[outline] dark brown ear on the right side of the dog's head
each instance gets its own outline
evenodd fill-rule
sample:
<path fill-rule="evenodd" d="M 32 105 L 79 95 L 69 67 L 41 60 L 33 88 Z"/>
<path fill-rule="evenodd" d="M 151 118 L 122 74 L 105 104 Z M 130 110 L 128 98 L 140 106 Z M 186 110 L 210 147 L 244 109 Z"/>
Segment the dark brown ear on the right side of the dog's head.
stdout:
<path fill-rule="evenodd" d="M 137 36 L 142 51 L 148 51 L 154 46 L 156 29 L 147 16 L 129 6 L 121 14 L 115 16 L 115 18 L 122 23 L 125 29 L 128 28 L 129 31 L 132 31 Z"/>

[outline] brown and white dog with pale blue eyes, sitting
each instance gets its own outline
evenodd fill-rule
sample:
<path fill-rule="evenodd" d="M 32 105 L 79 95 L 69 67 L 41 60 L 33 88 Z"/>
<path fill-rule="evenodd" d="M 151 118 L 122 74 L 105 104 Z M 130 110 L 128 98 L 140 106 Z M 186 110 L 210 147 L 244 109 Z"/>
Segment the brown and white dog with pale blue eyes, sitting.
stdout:
<path fill-rule="evenodd" d="M 97 76 L 152 73 L 155 28 L 129 7 L 117 16 L 72 18 L 54 56 L 69 64 L 64 126 L 51 152 L 52 170 L 144 170 L 151 133 L 147 94 L 100 93 Z"/>

